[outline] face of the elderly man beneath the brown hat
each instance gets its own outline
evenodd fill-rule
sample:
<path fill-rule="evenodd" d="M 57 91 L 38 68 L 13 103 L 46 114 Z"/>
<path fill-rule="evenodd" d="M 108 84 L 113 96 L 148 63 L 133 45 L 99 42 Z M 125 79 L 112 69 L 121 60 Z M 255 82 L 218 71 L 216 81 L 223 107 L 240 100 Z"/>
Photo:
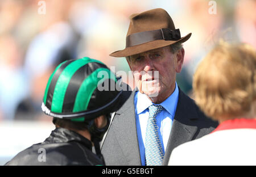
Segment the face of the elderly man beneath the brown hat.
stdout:
<path fill-rule="evenodd" d="M 152 102 L 161 103 L 175 89 L 176 73 L 183 65 L 184 49 L 171 52 L 170 46 L 130 56 L 127 60 L 134 71 L 135 84 Z"/>

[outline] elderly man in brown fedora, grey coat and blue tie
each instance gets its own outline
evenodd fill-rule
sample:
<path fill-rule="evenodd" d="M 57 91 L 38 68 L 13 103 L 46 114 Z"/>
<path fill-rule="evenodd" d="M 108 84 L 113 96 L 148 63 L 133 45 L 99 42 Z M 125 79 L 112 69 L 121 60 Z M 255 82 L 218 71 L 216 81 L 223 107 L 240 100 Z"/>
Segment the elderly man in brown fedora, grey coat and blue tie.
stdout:
<path fill-rule="evenodd" d="M 176 83 L 190 36 L 181 37 L 163 9 L 130 16 L 126 48 L 110 56 L 126 57 L 137 88 L 112 116 L 106 165 L 167 165 L 174 147 L 216 128 Z"/>

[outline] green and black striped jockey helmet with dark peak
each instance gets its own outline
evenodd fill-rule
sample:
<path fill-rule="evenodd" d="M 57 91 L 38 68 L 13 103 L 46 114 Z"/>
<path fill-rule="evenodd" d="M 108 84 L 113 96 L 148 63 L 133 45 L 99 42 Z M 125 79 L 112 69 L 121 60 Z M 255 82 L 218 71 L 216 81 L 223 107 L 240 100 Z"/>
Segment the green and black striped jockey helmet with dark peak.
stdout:
<path fill-rule="evenodd" d="M 89 121 L 116 111 L 122 92 L 121 82 L 102 62 L 88 57 L 67 60 L 49 77 L 42 110 L 56 118 Z"/>

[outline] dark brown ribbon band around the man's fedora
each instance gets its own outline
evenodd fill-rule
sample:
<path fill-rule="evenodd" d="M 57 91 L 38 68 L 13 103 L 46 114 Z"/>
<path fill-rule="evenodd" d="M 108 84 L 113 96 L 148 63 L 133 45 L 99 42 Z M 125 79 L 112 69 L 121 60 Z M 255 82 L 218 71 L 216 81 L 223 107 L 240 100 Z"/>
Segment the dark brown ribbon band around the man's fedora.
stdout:
<path fill-rule="evenodd" d="M 126 47 L 139 45 L 155 40 L 179 40 L 180 29 L 161 28 L 152 31 L 133 33 L 126 37 Z"/>

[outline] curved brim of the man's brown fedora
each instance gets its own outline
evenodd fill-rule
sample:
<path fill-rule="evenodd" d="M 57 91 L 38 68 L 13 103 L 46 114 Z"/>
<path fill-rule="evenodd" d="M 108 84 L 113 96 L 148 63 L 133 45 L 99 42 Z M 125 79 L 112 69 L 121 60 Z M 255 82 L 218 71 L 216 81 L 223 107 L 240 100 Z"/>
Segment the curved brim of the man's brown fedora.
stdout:
<path fill-rule="evenodd" d="M 111 54 L 109 54 L 109 56 L 112 57 L 127 57 L 127 56 L 132 56 L 134 54 L 138 54 L 138 53 L 142 53 L 142 52 L 146 52 L 148 50 L 152 50 L 152 49 L 158 49 L 161 47 L 166 47 L 167 45 L 172 45 L 175 43 L 184 43 L 185 41 L 187 41 L 189 39 L 189 37 L 191 37 L 192 33 L 189 33 L 188 35 L 181 37 L 181 39 L 176 40 L 176 41 L 171 41 L 171 40 L 155 40 L 155 41 L 150 41 L 147 43 L 143 43 L 143 44 L 139 44 L 139 45 L 134 45 L 131 47 L 127 47 L 123 50 L 118 50 L 115 51 Z"/>

